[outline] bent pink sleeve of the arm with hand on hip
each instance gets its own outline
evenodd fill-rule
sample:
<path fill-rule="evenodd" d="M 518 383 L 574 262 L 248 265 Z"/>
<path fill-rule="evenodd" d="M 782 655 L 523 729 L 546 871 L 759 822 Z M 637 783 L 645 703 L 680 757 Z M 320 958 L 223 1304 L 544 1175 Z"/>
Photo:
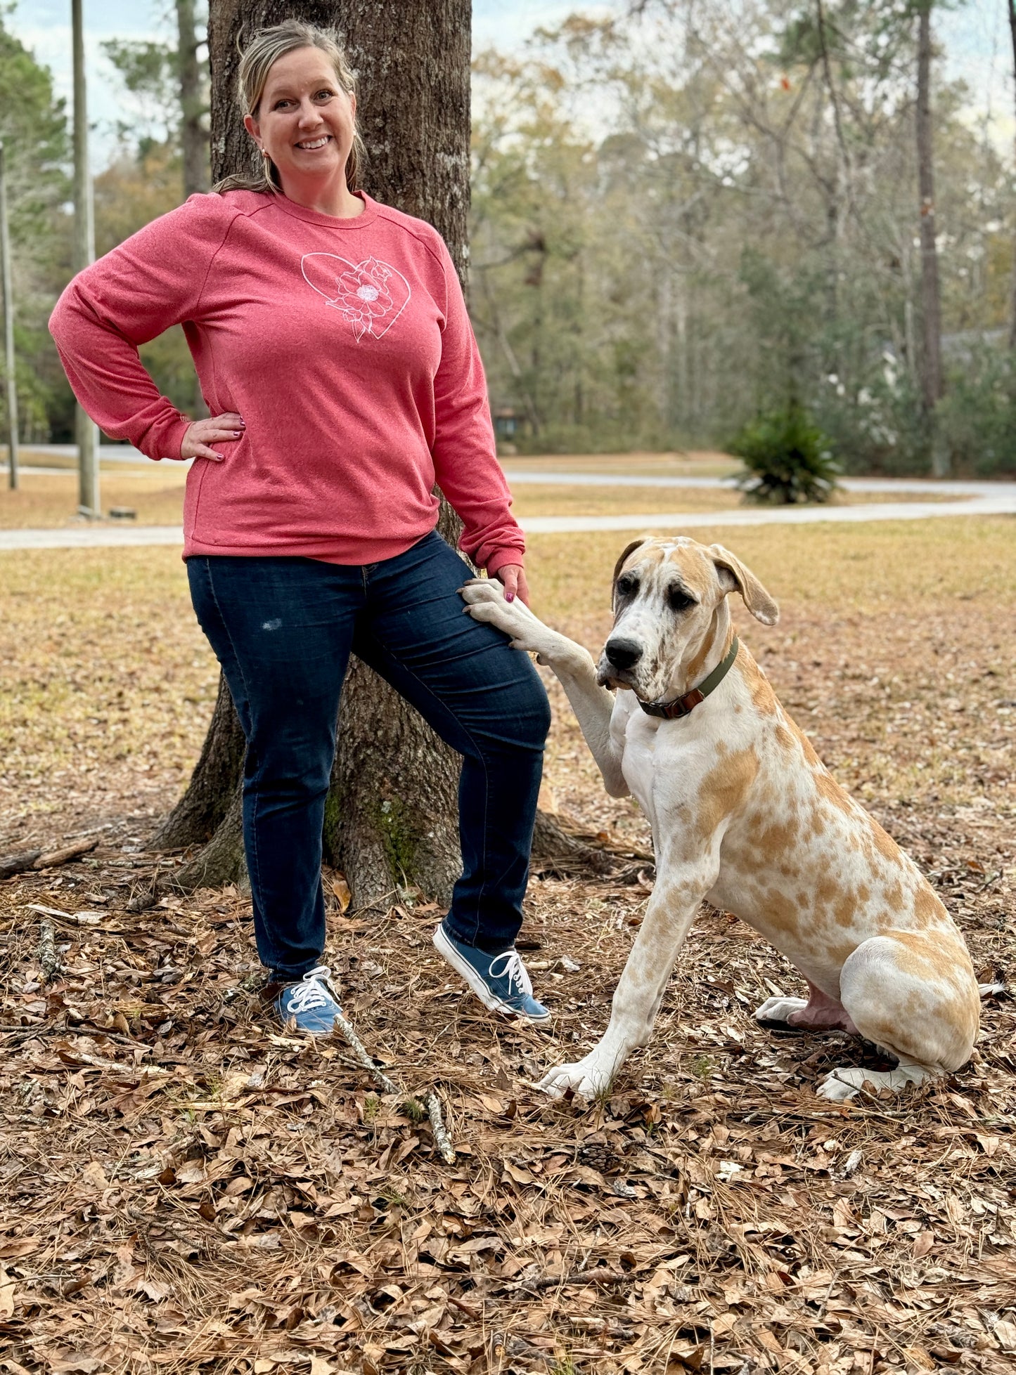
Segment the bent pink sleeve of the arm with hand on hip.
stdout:
<path fill-rule="evenodd" d="M 197 316 L 234 213 L 218 195 L 190 197 L 78 272 L 50 318 L 74 396 L 149 458 L 179 458 L 190 421 L 160 396 L 138 346 Z"/>

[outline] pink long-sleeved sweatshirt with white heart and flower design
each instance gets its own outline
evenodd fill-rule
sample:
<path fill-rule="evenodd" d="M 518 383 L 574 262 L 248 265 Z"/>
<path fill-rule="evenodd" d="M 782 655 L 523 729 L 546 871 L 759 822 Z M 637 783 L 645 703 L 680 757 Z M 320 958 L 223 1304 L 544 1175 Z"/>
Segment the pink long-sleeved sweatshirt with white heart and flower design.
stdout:
<path fill-rule="evenodd" d="M 198 458 L 190 554 L 372 564 L 434 528 L 438 483 L 461 547 L 494 573 L 525 539 L 494 454 L 483 366 L 452 258 L 423 220 L 363 197 L 357 219 L 282 195 L 191 195 L 80 272 L 50 330 L 106 434 L 179 458 L 190 424 L 138 345 L 182 323 L 213 415 L 246 433 Z"/>

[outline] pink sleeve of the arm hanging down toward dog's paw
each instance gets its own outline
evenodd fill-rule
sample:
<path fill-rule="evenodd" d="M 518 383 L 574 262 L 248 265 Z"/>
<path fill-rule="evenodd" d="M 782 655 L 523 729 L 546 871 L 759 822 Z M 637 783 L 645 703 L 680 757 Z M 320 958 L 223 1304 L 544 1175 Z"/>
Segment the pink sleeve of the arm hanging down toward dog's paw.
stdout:
<path fill-rule="evenodd" d="M 434 378 L 434 472 L 463 518 L 463 550 L 493 575 L 504 564 L 522 562 L 526 538 L 511 513 L 508 483 L 497 461 L 487 384 L 463 289 L 443 243 L 441 252 L 446 305 Z"/>

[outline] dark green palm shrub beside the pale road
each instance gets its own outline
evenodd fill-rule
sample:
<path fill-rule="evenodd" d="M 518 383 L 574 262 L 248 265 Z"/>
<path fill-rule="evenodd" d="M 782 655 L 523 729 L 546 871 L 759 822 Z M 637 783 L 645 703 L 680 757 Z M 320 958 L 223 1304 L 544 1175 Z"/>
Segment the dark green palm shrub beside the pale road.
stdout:
<path fill-rule="evenodd" d="M 836 491 L 832 440 L 794 402 L 749 421 L 727 448 L 748 469 L 738 487 L 749 502 L 827 502 Z"/>

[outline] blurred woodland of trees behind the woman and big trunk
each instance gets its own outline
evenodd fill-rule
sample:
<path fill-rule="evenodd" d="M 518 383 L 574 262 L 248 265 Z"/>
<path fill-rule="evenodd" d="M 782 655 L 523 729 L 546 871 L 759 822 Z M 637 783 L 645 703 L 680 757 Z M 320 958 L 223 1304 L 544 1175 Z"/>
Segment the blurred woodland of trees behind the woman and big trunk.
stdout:
<path fill-rule="evenodd" d="M 95 180 L 100 253 L 208 184 L 205 18 L 175 12 L 165 43 L 106 44 L 135 116 Z M 723 446 L 798 402 L 848 470 L 1016 473 L 1016 165 L 982 92 L 943 78 L 935 18 L 643 0 L 480 52 L 471 309 L 507 441 Z M 0 136 L 23 437 L 67 440 L 45 333 L 70 276 L 67 120 L 3 30 Z M 194 406 L 180 331 L 143 355 Z"/>

